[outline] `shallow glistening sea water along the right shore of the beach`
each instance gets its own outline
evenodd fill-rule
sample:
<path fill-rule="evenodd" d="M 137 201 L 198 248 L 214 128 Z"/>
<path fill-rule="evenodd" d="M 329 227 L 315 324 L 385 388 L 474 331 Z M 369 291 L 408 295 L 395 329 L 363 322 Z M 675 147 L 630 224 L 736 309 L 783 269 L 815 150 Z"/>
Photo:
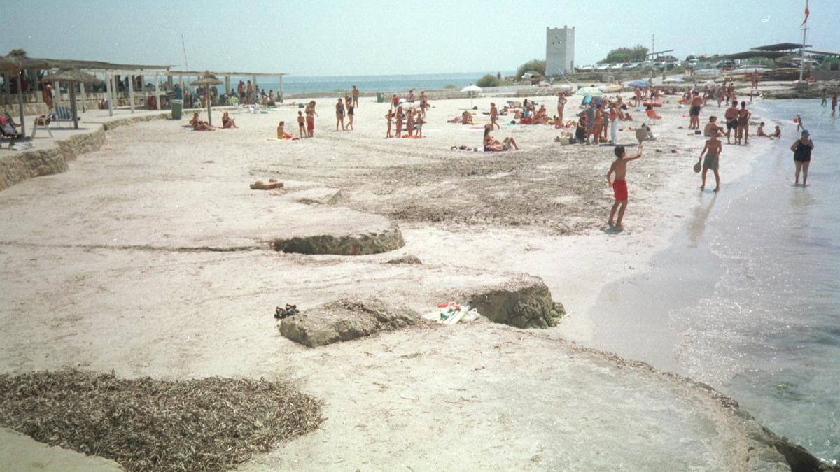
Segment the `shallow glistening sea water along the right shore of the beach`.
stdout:
<path fill-rule="evenodd" d="M 652 270 L 604 289 L 592 344 L 711 384 L 840 462 L 840 123 L 819 100 L 753 113 L 783 138 L 738 182 L 698 190 Z M 815 143 L 807 187 L 794 186 L 796 113 Z M 724 144 L 722 172 L 730 159 L 738 147 Z"/>

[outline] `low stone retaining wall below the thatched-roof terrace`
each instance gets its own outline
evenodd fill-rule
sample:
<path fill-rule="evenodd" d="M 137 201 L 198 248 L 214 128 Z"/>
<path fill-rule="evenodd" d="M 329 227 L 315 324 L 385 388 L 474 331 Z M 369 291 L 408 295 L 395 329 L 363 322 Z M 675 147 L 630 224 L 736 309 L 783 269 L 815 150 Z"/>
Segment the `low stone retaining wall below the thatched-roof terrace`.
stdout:
<path fill-rule="evenodd" d="M 131 123 L 164 119 L 169 116 L 169 113 L 159 113 L 113 120 L 103 123 L 102 128 L 92 133 L 75 134 L 68 139 L 55 141 L 55 147 L 50 149 L 33 149 L 0 157 L 0 191 L 33 177 L 66 172 L 69 169 L 67 162 L 102 147 L 106 131 Z"/>

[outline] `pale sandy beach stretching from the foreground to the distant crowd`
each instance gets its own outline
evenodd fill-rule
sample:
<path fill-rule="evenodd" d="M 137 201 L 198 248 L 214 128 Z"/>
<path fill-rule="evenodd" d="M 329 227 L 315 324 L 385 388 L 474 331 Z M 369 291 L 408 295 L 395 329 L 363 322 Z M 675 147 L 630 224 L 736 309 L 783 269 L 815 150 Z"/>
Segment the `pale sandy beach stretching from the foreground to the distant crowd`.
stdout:
<path fill-rule="evenodd" d="M 384 139 L 387 105 L 370 99 L 349 132 L 334 131 L 333 100 L 318 100 L 316 137 L 299 141 L 273 139 L 277 121 L 294 123 L 289 103 L 233 112 L 238 129 L 155 120 L 109 131 L 68 172 L 0 192 L 9 222 L 2 371 L 291 379 L 324 401 L 318 431 L 245 470 L 788 469 L 780 438 L 725 396 L 570 343 L 585 346 L 599 328 L 601 287 L 648 269 L 676 232 L 703 224 L 696 207 L 711 192 L 701 194 L 691 170 L 703 139 L 680 128 L 687 110 L 668 104 L 652 125 L 657 139 L 629 166 L 631 203 L 617 233 L 606 227 L 612 148 L 554 143 L 549 126 L 502 125 L 496 137 L 522 150 L 450 149 L 480 145 L 488 118 L 477 115 L 476 127 L 446 120 L 505 100 L 432 102 L 424 139 Z M 536 100 L 554 108 L 553 97 Z M 572 97 L 567 116 L 579 103 Z M 642 123 L 633 114 L 622 128 Z M 634 144 L 633 131 L 619 141 Z M 722 191 L 772 145 L 725 145 Z M 249 189 L 270 178 L 285 187 Z M 405 245 L 382 254 L 270 247 L 394 227 Z M 402 255 L 423 264 L 386 264 Z M 344 296 L 433 312 L 523 277 L 541 278 L 564 304 L 556 328 L 423 323 L 309 349 L 271 317 L 277 305 Z"/>

